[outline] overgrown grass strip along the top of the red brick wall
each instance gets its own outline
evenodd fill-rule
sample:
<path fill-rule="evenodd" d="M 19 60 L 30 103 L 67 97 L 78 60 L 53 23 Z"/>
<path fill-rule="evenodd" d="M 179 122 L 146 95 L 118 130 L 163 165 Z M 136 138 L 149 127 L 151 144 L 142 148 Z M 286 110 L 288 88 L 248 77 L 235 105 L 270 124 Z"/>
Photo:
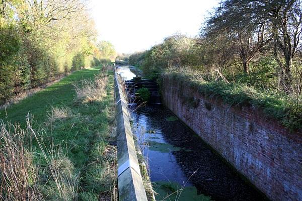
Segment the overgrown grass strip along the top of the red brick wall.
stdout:
<path fill-rule="evenodd" d="M 163 76 L 177 80 L 183 86 L 192 87 L 203 96 L 219 97 L 224 103 L 231 106 L 250 106 L 261 109 L 264 116 L 278 120 L 292 131 L 301 129 L 301 96 L 290 96 L 276 89 L 261 90 L 240 82 L 206 81 L 200 78 L 198 71 L 196 73 L 170 71 Z"/>

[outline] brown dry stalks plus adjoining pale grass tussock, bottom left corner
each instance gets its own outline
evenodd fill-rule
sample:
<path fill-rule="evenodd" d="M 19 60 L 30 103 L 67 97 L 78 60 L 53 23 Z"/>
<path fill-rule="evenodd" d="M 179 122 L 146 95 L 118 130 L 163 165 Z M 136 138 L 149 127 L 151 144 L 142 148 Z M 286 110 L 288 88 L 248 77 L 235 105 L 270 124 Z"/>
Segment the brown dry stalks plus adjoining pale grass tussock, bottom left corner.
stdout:
<path fill-rule="evenodd" d="M 1 200 L 75 200 L 79 174 L 61 146 L 46 145 L 27 119 L 20 124 L 0 123 Z M 32 148 L 36 141 L 39 150 Z M 34 156 L 35 154 L 35 156 Z M 33 162 L 39 158 L 40 164 Z M 41 162 L 43 161 L 43 162 Z"/>

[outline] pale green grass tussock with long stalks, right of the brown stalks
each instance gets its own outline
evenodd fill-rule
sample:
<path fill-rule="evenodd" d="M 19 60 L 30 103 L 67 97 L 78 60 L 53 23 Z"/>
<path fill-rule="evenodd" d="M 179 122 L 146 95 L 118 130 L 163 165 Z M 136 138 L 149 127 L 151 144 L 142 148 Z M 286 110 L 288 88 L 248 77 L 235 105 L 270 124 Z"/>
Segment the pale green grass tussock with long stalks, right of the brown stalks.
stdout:
<path fill-rule="evenodd" d="M 65 145 L 62 144 L 54 145 L 52 137 L 47 141 L 44 140 L 43 134 L 35 132 L 31 127 L 29 118 L 27 130 L 30 138 L 34 139 L 39 146 L 39 151 L 36 152 L 36 157 L 40 159 L 37 164 L 37 174 L 38 186 L 43 194 L 43 199 L 77 200 L 80 172 L 74 169 L 72 162 L 67 157 L 66 150 L 69 148 L 65 148 Z"/>

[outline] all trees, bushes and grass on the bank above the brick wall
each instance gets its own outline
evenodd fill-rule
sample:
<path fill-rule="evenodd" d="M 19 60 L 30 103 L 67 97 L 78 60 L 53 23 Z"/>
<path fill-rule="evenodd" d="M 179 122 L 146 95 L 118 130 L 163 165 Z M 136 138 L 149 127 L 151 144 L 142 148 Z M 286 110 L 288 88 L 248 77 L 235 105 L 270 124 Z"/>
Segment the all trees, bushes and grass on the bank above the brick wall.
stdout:
<path fill-rule="evenodd" d="M 190 38 L 173 35 L 129 57 L 149 78 L 184 81 L 230 105 L 302 125 L 302 2 L 224 0 Z"/>

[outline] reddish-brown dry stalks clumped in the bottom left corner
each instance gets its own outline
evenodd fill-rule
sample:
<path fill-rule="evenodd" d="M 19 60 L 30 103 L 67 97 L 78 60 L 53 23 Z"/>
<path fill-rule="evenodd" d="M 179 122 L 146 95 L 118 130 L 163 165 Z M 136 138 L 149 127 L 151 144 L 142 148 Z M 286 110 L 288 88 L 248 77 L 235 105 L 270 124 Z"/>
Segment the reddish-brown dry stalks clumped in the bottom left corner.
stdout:
<path fill-rule="evenodd" d="M 0 122 L 1 200 L 41 200 L 37 168 L 26 149 L 26 136 L 20 124 Z"/>

